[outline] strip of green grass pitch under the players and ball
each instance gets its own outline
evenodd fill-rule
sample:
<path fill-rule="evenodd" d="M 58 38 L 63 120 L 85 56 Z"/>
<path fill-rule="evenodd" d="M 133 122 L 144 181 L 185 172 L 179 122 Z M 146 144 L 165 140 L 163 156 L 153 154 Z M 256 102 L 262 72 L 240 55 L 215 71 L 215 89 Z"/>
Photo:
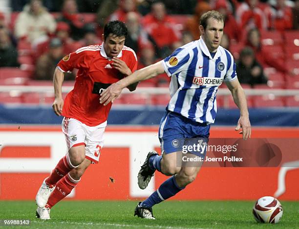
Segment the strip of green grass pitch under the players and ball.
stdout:
<path fill-rule="evenodd" d="M 62 201 L 52 208 L 51 220 L 43 221 L 35 218 L 33 201 L 0 201 L 0 219 L 30 219 L 30 227 L 25 228 L 41 229 L 299 228 L 299 202 L 282 201 L 283 217 L 276 225 L 255 222 L 254 201 L 165 201 L 153 208 L 156 220 L 134 217 L 136 204 L 137 201 Z"/>

